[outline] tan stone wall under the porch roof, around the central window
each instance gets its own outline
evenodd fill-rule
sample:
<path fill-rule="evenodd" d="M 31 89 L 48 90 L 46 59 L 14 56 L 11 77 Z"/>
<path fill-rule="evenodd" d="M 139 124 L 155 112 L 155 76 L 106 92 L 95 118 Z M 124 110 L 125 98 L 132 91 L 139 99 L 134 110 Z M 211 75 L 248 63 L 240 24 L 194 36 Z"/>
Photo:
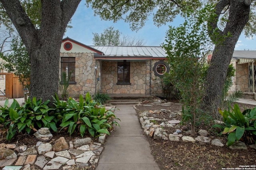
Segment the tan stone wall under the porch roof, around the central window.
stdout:
<path fill-rule="evenodd" d="M 156 60 L 152 62 L 152 65 Z M 152 66 L 153 67 L 153 66 Z M 161 94 L 155 76 L 152 73 L 152 95 Z M 130 85 L 117 85 L 117 61 L 102 62 L 102 93 L 107 94 L 150 94 L 150 61 L 130 62 Z"/>

